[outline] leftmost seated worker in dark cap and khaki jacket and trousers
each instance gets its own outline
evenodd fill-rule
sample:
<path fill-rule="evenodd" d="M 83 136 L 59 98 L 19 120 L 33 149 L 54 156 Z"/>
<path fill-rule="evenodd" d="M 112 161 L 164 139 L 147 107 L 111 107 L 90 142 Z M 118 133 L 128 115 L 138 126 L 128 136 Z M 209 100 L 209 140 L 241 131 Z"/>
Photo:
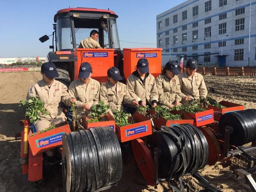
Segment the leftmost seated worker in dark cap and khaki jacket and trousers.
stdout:
<path fill-rule="evenodd" d="M 41 131 L 49 128 L 50 124 L 56 125 L 66 120 L 61 102 L 66 105 L 76 102 L 76 99 L 70 97 L 67 92 L 67 86 L 56 81 L 54 78 L 58 77 L 55 64 L 47 62 L 41 66 L 41 74 L 43 79 L 38 81 L 29 88 L 26 100 L 28 101 L 31 96 L 37 96 L 44 102 L 44 107 L 47 109 L 47 115 L 39 115 L 40 120 L 35 122 L 36 131 Z M 47 156 L 52 157 L 51 150 L 46 151 Z"/>

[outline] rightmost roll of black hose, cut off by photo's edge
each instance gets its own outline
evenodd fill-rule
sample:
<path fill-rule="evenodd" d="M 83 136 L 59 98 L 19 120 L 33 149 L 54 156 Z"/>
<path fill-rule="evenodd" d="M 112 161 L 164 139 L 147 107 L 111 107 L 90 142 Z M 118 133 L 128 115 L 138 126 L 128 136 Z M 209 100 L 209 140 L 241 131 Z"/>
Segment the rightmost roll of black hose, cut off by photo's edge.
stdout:
<path fill-rule="evenodd" d="M 256 109 L 225 113 L 219 121 L 219 131 L 225 137 L 225 127 L 233 128 L 230 144 L 241 146 L 256 139 Z"/>

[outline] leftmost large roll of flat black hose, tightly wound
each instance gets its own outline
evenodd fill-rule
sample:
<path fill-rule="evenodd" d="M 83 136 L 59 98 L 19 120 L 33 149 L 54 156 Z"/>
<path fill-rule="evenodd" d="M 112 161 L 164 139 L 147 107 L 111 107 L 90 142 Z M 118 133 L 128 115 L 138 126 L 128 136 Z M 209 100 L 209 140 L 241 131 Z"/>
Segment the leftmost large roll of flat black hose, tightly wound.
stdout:
<path fill-rule="evenodd" d="M 121 148 L 112 128 L 72 132 L 63 139 L 70 152 L 72 192 L 95 191 L 121 179 Z"/>

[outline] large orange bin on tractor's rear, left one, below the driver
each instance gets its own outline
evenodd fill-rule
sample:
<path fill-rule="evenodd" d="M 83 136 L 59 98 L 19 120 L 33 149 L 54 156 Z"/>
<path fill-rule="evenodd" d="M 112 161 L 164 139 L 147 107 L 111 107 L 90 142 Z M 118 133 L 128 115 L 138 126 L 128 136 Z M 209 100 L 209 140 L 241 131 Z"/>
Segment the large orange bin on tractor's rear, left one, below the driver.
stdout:
<path fill-rule="evenodd" d="M 93 68 L 92 78 L 101 83 L 108 81 L 107 71 L 114 67 L 114 49 L 76 49 L 77 57 L 74 66 L 74 79 L 78 79 L 81 63 L 88 62 Z"/>

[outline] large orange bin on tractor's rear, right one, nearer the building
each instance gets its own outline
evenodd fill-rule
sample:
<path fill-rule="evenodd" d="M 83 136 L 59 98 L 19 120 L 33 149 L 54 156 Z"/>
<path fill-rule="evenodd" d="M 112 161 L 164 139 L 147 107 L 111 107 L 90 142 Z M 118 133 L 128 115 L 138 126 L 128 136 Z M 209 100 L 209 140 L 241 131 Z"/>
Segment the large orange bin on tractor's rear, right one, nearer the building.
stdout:
<path fill-rule="evenodd" d="M 124 48 L 125 79 L 134 72 L 140 58 L 148 59 L 149 73 L 157 77 L 162 69 L 162 50 L 162 48 Z"/>

